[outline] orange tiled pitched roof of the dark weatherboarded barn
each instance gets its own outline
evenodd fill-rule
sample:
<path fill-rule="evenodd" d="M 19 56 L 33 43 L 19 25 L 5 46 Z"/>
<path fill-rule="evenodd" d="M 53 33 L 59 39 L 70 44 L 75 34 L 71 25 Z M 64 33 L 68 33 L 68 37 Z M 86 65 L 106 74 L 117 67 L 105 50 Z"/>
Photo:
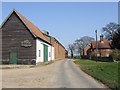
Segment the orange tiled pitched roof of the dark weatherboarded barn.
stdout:
<path fill-rule="evenodd" d="M 36 27 L 33 23 L 31 23 L 31 22 L 30 22 L 27 18 L 25 18 L 23 15 L 21 15 L 20 13 L 18 13 L 15 9 L 12 11 L 12 13 L 14 13 L 14 12 L 18 15 L 18 17 L 22 20 L 22 22 L 26 25 L 26 27 L 30 30 L 30 32 L 31 32 L 35 37 L 38 37 L 38 38 L 44 40 L 45 42 L 49 43 L 38 27 Z M 12 14 L 12 13 L 11 13 L 11 14 Z M 11 14 L 8 16 L 8 18 L 11 16 Z M 7 18 L 7 19 L 8 19 L 8 18 Z M 4 23 L 7 21 L 7 19 L 3 22 L 2 26 L 3 26 Z M 49 43 L 49 44 L 50 44 L 50 43 Z"/>

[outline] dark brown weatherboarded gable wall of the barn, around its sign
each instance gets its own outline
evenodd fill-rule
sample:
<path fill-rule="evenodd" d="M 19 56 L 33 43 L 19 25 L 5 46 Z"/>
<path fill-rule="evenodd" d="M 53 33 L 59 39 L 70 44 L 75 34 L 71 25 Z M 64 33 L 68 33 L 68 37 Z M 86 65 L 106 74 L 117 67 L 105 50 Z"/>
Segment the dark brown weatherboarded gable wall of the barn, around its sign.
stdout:
<path fill-rule="evenodd" d="M 27 40 L 31 45 L 22 46 Z M 10 63 L 10 54 L 17 54 L 17 63 L 31 63 L 36 59 L 36 40 L 22 23 L 16 13 L 13 13 L 2 26 L 2 60 L 3 64 Z"/>

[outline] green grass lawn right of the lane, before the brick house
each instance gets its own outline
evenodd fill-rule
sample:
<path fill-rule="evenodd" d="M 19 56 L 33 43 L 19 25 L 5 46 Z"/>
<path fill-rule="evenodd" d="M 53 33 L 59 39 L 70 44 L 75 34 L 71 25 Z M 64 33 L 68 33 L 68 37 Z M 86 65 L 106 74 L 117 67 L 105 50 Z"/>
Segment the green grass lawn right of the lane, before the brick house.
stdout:
<path fill-rule="evenodd" d="M 79 59 L 76 59 L 74 62 L 78 64 L 84 72 L 103 82 L 108 87 L 118 89 L 118 63 Z"/>

